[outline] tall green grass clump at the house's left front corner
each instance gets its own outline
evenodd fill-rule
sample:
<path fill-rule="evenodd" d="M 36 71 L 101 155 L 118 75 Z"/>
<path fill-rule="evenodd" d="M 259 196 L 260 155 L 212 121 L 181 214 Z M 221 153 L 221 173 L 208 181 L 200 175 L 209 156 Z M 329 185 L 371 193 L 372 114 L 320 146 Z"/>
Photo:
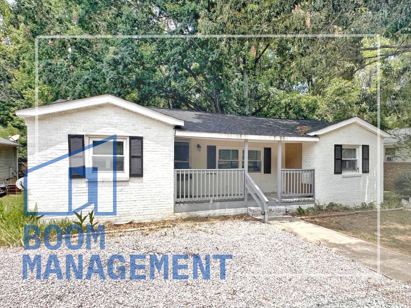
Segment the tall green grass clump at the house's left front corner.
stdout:
<path fill-rule="evenodd" d="M 23 194 L 7 195 L 0 198 L 0 246 L 23 246 L 24 225 L 38 225 L 42 237 L 47 225 L 58 225 L 65 232 L 67 226 L 72 224 L 68 218 L 52 219 L 47 222 L 41 222 L 39 218 L 41 216 L 24 215 Z"/>

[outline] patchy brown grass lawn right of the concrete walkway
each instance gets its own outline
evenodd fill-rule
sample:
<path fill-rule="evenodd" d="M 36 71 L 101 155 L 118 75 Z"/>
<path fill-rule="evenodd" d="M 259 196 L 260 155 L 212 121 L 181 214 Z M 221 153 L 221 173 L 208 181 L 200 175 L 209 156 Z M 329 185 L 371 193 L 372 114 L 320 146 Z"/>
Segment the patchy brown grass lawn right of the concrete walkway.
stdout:
<path fill-rule="evenodd" d="M 381 212 L 381 246 L 411 255 L 411 211 Z M 377 213 L 313 218 L 310 223 L 377 243 Z"/>

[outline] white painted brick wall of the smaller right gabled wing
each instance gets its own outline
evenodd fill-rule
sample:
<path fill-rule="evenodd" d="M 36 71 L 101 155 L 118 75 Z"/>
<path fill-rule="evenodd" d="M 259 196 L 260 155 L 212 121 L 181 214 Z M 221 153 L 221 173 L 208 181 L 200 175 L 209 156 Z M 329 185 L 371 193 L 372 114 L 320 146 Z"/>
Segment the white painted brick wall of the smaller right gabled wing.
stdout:
<path fill-rule="evenodd" d="M 315 146 L 302 145 L 302 168 L 315 168 L 316 202 L 353 206 L 377 200 L 377 135 L 358 124 L 325 133 Z M 334 174 L 334 145 L 369 145 L 369 173 L 356 177 Z M 383 200 L 383 138 L 380 146 L 381 201 Z M 361 163 L 361 160 L 360 160 Z"/>

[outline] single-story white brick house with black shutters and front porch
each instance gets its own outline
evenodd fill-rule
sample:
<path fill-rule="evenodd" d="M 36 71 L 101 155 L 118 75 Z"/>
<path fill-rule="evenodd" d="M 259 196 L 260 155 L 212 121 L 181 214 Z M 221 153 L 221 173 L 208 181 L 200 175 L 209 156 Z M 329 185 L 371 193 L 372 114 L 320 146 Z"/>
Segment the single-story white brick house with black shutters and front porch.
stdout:
<path fill-rule="evenodd" d="M 111 95 L 16 114 L 27 125 L 29 168 L 117 135 L 117 216 L 100 221 L 237 214 L 256 206 L 268 214 L 314 202 L 383 200 L 383 138 L 390 135 L 359 117 L 327 123 L 147 108 Z M 112 170 L 110 158 L 98 151 L 71 165 Z M 67 190 L 60 182 L 68 167 L 61 161 L 29 178 L 31 206 L 67 203 L 59 192 Z M 104 189 L 110 175 L 98 176 Z M 85 179 L 73 178 L 72 185 L 73 194 L 87 194 Z M 104 200 L 99 195 L 99 206 Z"/>

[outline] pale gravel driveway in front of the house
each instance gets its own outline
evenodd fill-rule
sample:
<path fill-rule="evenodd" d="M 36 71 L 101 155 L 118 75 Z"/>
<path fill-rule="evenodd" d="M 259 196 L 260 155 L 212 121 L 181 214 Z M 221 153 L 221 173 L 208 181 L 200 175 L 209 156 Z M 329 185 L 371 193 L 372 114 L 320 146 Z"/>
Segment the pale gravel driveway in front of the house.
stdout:
<path fill-rule="evenodd" d="M 225 221 L 177 225 L 106 238 L 100 251 L 57 251 L 44 246 L 30 251 L 57 253 L 65 274 L 65 255 L 82 253 L 84 271 L 91 254 L 100 254 L 106 272 L 108 257 L 121 254 L 232 254 L 226 280 L 219 279 L 219 261 L 211 259 L 211 278 L 203 280 L 22 280 L 22 248 L 0 249 L 0 307 L 409 307 L 411 288 L 340 257 L 272 225 L 257 221 Z M 85 246 L 85 245 L 84 245 Z M 127 258 L 126 258 L 127 260 Z M 183 260 L 185 261 L 185 260 Z M 179 263 L 184 263 L 182 260 Z M 187 264 L 192 259 L 187 260 Z M 125 262 L 127 264 L 127 262 Z M 148 264 L 148 262 L 146 262 Z M 170 278 L 171 278 L 171 261 Z M 180 270 L 179 274 L 189 274 Z M 127 271 L 126 271 L 127 273 Z M 148 270 L 146 271 L 148 274 Z"/>

